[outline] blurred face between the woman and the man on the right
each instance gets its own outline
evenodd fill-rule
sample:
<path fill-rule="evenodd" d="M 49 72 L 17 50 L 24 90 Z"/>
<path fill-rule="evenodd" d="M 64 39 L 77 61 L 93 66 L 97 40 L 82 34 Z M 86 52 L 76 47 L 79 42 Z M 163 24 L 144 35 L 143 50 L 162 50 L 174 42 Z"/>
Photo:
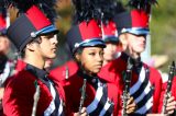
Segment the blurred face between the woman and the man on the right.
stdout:
<path fill-rule="evenodd" d="M 117 54 L 117 44 L 116 43 L 106 43 L 107 47 L 103 49 L 103 58 L 107 61 L 113 60 Z"/>

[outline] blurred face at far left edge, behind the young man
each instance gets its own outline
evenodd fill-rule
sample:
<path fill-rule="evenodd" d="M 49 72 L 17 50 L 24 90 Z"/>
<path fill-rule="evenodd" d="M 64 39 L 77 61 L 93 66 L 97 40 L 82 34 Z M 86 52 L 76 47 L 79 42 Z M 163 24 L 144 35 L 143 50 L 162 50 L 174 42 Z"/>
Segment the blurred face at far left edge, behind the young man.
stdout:
<path fill-rule="evenodd" d="M 0 36 L 0 53 L 7 55 L 10 48 L 10 42 L 8 37 Z"/>

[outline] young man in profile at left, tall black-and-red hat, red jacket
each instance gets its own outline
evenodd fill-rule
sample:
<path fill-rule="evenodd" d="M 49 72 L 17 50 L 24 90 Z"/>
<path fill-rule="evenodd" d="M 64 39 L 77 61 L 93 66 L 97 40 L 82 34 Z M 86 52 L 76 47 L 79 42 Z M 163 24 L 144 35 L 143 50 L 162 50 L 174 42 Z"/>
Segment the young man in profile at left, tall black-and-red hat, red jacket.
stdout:
<path fill-rule="evenodd" d="M 6 84 L 3 112 L 7 116 L 64 115 L 64 92 L 44 71 L 45 60 L 56 57 L 57 28 L 43 12 L 31 5 L 8 28 L 8 37 L 22 54 L 26 67 L 11 77 Z M 38 101 L 34 101 L 36 86 Z M 36 103 L 36 112 L 33 104 Z"/>

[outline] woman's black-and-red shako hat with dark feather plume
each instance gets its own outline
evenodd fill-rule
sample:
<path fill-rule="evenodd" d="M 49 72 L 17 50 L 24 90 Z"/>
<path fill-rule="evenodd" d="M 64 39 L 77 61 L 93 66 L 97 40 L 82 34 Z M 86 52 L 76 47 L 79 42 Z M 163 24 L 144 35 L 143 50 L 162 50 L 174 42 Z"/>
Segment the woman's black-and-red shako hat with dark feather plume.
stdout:
<path fill-rule="evenodd" d="M 96 0 L 73 0 L 76 13 L 74 25 L 67 33 L 67 43 L 73 54 L 81 47 L 106 47 L 99 24 L 100 11 Z"/>

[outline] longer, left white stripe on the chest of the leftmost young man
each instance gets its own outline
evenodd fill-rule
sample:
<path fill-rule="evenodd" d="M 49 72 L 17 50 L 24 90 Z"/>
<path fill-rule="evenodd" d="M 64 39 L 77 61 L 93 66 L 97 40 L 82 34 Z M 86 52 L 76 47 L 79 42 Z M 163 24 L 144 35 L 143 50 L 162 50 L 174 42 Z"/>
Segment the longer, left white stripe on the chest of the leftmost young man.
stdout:
<path fill-rule="evenodd" d="M 51 85 L 51 93 L 52 93 L 53 100 L 52 100 L 50 106 L 44 112 L 44 116 L 50 116 L 54 112 L 54 109 L 56 108 L 55 103 L 54 103 L 54 100 L 56 97 L 56 92 L 55 92 L 54 86 L 51 82 L 50 82 L 50 85 Z"/>

